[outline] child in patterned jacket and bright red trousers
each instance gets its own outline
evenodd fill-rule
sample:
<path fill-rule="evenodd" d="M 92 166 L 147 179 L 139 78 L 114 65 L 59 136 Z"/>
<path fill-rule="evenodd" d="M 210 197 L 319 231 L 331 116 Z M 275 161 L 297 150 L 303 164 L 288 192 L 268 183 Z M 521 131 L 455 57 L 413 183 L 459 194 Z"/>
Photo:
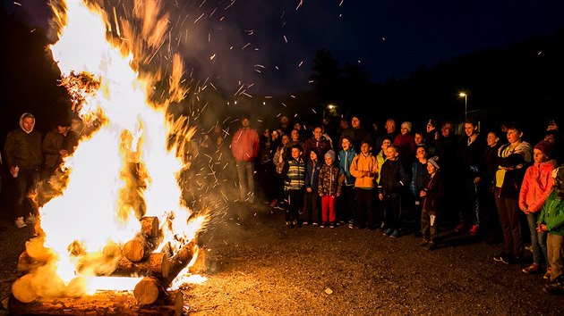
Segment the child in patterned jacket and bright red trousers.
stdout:
<path fill-rule="evenodd" d="M 335 163 L 335 152 L 329 150 L 325 154 L 325 164 L 320 168 L 319 179 L 317 181 L 317 192 L 321 198 L 321 224 L 323 229 L 329 225 L 334 229 L 337 225 L 337 212 L 335 205 L 337 197 L 341 195 L 343 182 L 339 181 L 339 168 Z"/>

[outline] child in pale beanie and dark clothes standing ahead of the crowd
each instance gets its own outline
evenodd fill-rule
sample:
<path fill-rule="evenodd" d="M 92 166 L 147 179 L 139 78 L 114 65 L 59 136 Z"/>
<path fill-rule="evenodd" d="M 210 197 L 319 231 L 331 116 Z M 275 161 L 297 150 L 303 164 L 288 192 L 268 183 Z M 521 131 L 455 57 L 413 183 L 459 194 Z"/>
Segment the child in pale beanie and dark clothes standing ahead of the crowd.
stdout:
<path fill-rule="evenodd" d="M 424 188 L 419 193 L 419 196 L 423 199 L 421 210 L 423 241 L 420 245 L 426 246 L 429 250 L 434 250 L 437 247 L 437 236 L 439 234 L 437 216 L 440 216 L 440 199 L 444 195 L 439 170 L 439 157 L 429 158 L 427 160 L 429 178 L 425 180 Z"/>

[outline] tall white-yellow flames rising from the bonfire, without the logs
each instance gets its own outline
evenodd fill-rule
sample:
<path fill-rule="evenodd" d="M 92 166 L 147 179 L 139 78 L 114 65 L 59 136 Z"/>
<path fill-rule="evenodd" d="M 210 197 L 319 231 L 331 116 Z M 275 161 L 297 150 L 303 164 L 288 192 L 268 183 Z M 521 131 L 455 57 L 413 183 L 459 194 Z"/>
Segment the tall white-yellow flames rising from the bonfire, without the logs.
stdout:
<path fill-rule="evenodd" d="M 158 2 L 148 4 L 149 9 L 158 10 Z M 45 245 L 56 254 L 56 274 L 69 282 L 76 276 L 80 254 L 101 253 L 106 245 L 124 244 L 139 232 L 140 211 L 124 201 L 124 188 L 131 180 L 127 170 L 132 165 L 141 165 L 137 181 L 144 193 L 145 215 L 156 216 L 164 224 L 161 245 L 177 248 L 193 239 L 205 218 L 192 220 L 192 212 L 181 201 L 177 177 L 184 163 L 174 147 L 170 150 L 173 124 L 165 106 L 150 102 L 150 79 L 141 79 L 133 70 L 132 52 L 107 40 L 106 13 L 81 1 L 62 7 L 66 12 L 54 9 L 61 29 L 59 40 L 50 46 L 53 58 L 63 77 L 87 73 L 99 82 L 97 90 L 84 96 L 80 109 L 83 118 L 97 117 L 99 127 L 83 137 L 73 156 L 65 160 L 68 182 L 62 195 L 40 210 Z M 154 45 L 158 37 L 150 33 L 150 25 L 162 33 L 163 22 L 153 21 L 157 14 L 147 11 L 142 33 Z M 178 58 L 175 67 L 172 77 L 180 82 Z M 182 89 L 171 89 L 176 99 L 184 95 Z M 191 133 L 184 129 L 185 137 Z M 72 245 L 81 248 L 79 254 L 69 250 Z"/>

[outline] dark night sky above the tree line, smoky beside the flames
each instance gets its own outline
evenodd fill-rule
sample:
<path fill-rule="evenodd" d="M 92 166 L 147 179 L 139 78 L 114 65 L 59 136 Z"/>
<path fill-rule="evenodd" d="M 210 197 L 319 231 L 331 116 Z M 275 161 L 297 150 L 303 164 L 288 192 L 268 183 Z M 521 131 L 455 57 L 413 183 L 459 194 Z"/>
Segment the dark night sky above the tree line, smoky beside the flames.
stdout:
<path fill-rule="evenodd" d="M 5 0 L 4 0 L 5 1 Z M 128 1 L 107 0 L 117 7 Z M 165 1 L 175 51 L 218 87 L 263 95 L 306 89 L 312 59 L 327 48 L 372 81 L 508 46 L 564 26 L 564 1 L 236 0 Z M 45 1 L 12 4 L 45 27 Z M 209 57 L 214 55 L 213 59 Z"/>

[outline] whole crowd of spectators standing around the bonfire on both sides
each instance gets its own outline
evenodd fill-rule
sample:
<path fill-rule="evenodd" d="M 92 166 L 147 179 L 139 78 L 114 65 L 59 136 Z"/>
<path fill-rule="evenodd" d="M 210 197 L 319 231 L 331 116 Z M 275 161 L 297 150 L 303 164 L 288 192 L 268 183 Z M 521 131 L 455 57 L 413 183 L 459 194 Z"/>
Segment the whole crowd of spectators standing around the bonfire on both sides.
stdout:
<path fill-rule="evenodd" d="M 0 162 L 14 179 L 16 227 L 36 220 L 38 204 L 30 203 L 30 193 L 73 154 L 84 134 L 78 120 L 61 121 L 42 137 L 26 112 L 20 128 L 8 133 Z M 454 123 L 432 119 L 421 128 L 404 121 L 397 131 L 390 118 L 381 132 L 376 123 L 365 128 L 358 115 L 340 118 L 338 128 L 330 118 L 306 126 L 282 116 L 278 126 L 260 131 L 249 116 L 237 121 L 234 132 L 216 124 L 184 148 L 192 160 L 200 151 L 210 156 L 228 146 L 235 202 L 264 200 L 272 212 L 284 212 L 287 229 L 413 234 L 429 250 L 440 246 L 441 231 L 502 241 L 492 259 L 506 264 L 525 263 L 530 244 L 533 262 L 523 272 L 543 274 L 547 292 L 564 293 L 563 139 L 555 121 L 543 137 L 527 140 L 517 124 L 484 131 L 474 119 L 464 121 L 461 135 Z M 195 176 L 179 179 L 186 199 Z"/>

